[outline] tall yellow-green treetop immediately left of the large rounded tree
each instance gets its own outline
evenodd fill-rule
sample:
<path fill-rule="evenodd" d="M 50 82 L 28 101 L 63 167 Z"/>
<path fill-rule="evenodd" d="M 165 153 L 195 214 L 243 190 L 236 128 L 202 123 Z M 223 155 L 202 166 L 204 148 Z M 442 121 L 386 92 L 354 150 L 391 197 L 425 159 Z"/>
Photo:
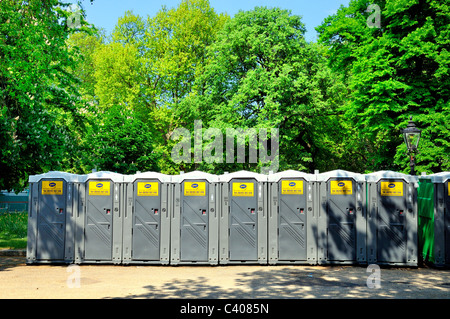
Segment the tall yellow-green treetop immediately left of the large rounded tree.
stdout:
<path fill-rule="evenodd" d="M 227 19 L 214 11 L 208 0 L 182 0 L 178 7 L 164 6 L 149 18 L 146 58 L 149 71 L 157 74 L 157 104 L 176 106 L 191 92 L 206 64 L 206 48 Z"/>

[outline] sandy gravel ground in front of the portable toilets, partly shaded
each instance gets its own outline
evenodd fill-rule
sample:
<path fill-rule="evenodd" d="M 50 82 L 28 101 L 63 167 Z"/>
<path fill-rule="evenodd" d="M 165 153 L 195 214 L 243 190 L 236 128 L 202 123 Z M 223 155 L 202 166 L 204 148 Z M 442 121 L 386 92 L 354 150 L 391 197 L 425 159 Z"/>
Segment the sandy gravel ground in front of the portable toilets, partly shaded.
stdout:
<path fill-rule="evenodd" d="M 0 256 L 0 287 L 1 299 L 449 299 L 450 270 L 26 265 Z"/>

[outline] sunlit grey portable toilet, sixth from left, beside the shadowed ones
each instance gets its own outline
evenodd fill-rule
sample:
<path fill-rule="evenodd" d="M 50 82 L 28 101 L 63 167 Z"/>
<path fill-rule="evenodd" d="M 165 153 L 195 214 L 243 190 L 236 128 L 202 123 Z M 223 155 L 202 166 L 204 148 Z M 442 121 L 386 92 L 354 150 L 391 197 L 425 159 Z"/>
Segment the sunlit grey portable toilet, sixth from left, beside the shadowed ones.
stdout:
<path fill-rule="evenodd" d="M 269 264 L 317 263 L 316 178 L 288 170 L 268 178 Z"/>

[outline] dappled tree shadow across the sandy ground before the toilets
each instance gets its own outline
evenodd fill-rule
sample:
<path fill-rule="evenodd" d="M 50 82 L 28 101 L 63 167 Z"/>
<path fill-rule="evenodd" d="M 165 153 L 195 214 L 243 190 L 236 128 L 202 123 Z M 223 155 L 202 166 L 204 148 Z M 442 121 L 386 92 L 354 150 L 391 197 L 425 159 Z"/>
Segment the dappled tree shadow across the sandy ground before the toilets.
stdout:
<path fill-rule="evenodd" d="M 401 274 L 402 276 L 399 276 Z M 414 274 L 414 275 L 413 275 Z M 432 278 L 427 271 L 382 270 L 381 287 L 369 288 L 368 274 L 360 267 L 272 268 L 242 272 L 233 287 L 215 284 L 206 277 L 175 279 L 161 286 L 148 285 L 147 293 L 129 298 L 186 299 L 305 299 L 305 298 L 450 298 L 450 273 Z M 384 278 L 383 278 L 384 276 Z"/>

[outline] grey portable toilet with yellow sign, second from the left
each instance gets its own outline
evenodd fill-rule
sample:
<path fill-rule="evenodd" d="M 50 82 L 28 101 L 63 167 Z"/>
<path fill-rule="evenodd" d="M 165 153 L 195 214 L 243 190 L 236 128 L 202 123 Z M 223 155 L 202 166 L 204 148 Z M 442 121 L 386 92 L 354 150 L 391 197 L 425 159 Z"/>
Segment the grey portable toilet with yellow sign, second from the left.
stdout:
<path fill-rule="evenodd" d="M 80 185 L 75 263 L 122 262 L 124 176 L 112 172 L 84 175 Z"/>

